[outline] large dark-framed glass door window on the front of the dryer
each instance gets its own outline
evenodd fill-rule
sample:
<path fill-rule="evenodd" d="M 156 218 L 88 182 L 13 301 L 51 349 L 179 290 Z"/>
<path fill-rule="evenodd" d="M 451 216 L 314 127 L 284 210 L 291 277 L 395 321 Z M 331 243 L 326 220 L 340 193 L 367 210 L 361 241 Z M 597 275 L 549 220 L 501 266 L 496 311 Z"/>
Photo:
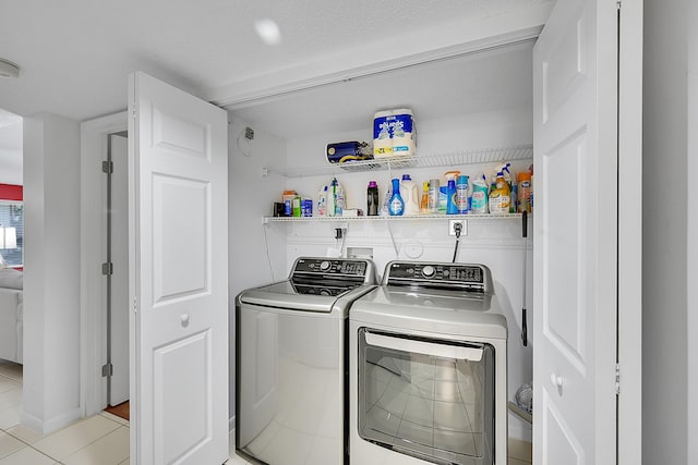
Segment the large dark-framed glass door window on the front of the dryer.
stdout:
<path fill-rule="evenodd" d="M 359 330 L 359 436 L 431 463 L 494 463 L 494 347 Z"/>

